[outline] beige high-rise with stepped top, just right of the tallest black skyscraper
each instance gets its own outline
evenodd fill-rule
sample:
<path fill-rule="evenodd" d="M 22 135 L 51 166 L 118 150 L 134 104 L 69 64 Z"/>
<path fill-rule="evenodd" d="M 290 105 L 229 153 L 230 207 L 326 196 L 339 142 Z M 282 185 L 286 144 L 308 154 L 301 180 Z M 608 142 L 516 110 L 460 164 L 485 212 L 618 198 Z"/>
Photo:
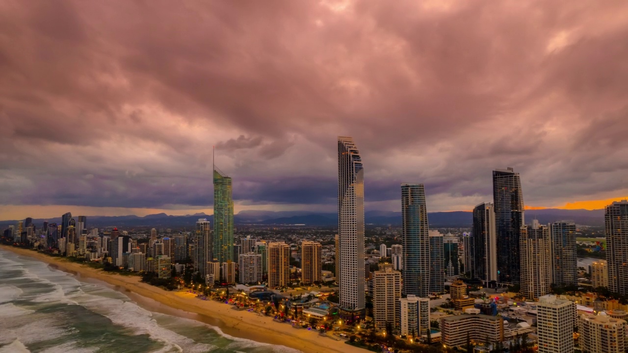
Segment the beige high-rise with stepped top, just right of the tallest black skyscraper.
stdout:
<path fill-rule="evenodd" d="M 538 299 L 550 291 L 551 256 L 549 229 L 532 220 L 531 225 L 521 228 L 521 293 L 526 298 Z"/>

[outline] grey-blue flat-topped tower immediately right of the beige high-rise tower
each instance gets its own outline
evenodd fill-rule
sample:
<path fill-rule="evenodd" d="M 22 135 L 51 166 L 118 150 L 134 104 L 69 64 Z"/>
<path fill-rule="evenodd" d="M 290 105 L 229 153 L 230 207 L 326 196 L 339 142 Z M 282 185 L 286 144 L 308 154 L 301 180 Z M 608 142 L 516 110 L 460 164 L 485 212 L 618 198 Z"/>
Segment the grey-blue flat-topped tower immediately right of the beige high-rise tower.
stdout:
<path fill-rule="evenodd" d="M 549 237 L 551 283 L 560 287 L 578 285 L 576 224 L 564 220 L 549 224 Z"/>

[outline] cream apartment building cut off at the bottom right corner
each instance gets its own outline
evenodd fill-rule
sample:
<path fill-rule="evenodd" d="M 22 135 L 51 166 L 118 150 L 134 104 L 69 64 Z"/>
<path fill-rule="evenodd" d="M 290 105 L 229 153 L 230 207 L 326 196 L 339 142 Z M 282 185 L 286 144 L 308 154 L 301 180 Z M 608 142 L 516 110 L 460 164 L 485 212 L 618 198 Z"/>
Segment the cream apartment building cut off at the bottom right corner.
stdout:
<path fill-rule="evenodd" d="M 580 337 L 578 343 L 582 352 L 625 353 L 628 350 L 628 324 L 620 318 L 585 313 L 579 318 Z"/>

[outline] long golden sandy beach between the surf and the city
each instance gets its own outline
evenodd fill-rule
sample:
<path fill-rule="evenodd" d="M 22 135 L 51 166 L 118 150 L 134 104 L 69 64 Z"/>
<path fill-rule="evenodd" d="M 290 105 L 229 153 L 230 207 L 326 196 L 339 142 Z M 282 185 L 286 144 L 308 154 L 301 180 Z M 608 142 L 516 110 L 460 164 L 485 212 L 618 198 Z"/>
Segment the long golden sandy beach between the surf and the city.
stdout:
<path fill-rule="evenodd" d="M 322 337 L 316 331 L 294 329 L 287 323 L 274 322 L 271 317 L 234 310 L 232 305 L 214 300 L 200 300 L 195 295 L 185 291 L 165 291 L 141 283 L 138 276 L 109 274 L 84 264 L 72 263 L 63 258 L 53 258 L 17 247 L 1 246 L 0 249 L 43 261 L 53 268 L 72 273 L 85 281 L 102 281 L 125 293 L 147 310 L 205 322 L 219 327 L 222 332 L 234 337 L 267 344 L 285 345 L 305 353 L 368 352 L 368 350 L 345 344 L 344 341 Z"/>

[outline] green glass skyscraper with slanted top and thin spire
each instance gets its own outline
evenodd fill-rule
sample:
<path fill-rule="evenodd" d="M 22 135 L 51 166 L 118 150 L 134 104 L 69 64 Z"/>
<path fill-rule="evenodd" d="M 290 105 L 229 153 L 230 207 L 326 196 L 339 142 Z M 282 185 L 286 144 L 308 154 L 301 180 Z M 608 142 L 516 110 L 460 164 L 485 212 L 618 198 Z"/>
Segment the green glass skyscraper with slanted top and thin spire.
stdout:
<path fill-rule="evenodd" d="M 234 200 L 231 178 L 214 167 L 214 259 L 234 260 Z"/>

